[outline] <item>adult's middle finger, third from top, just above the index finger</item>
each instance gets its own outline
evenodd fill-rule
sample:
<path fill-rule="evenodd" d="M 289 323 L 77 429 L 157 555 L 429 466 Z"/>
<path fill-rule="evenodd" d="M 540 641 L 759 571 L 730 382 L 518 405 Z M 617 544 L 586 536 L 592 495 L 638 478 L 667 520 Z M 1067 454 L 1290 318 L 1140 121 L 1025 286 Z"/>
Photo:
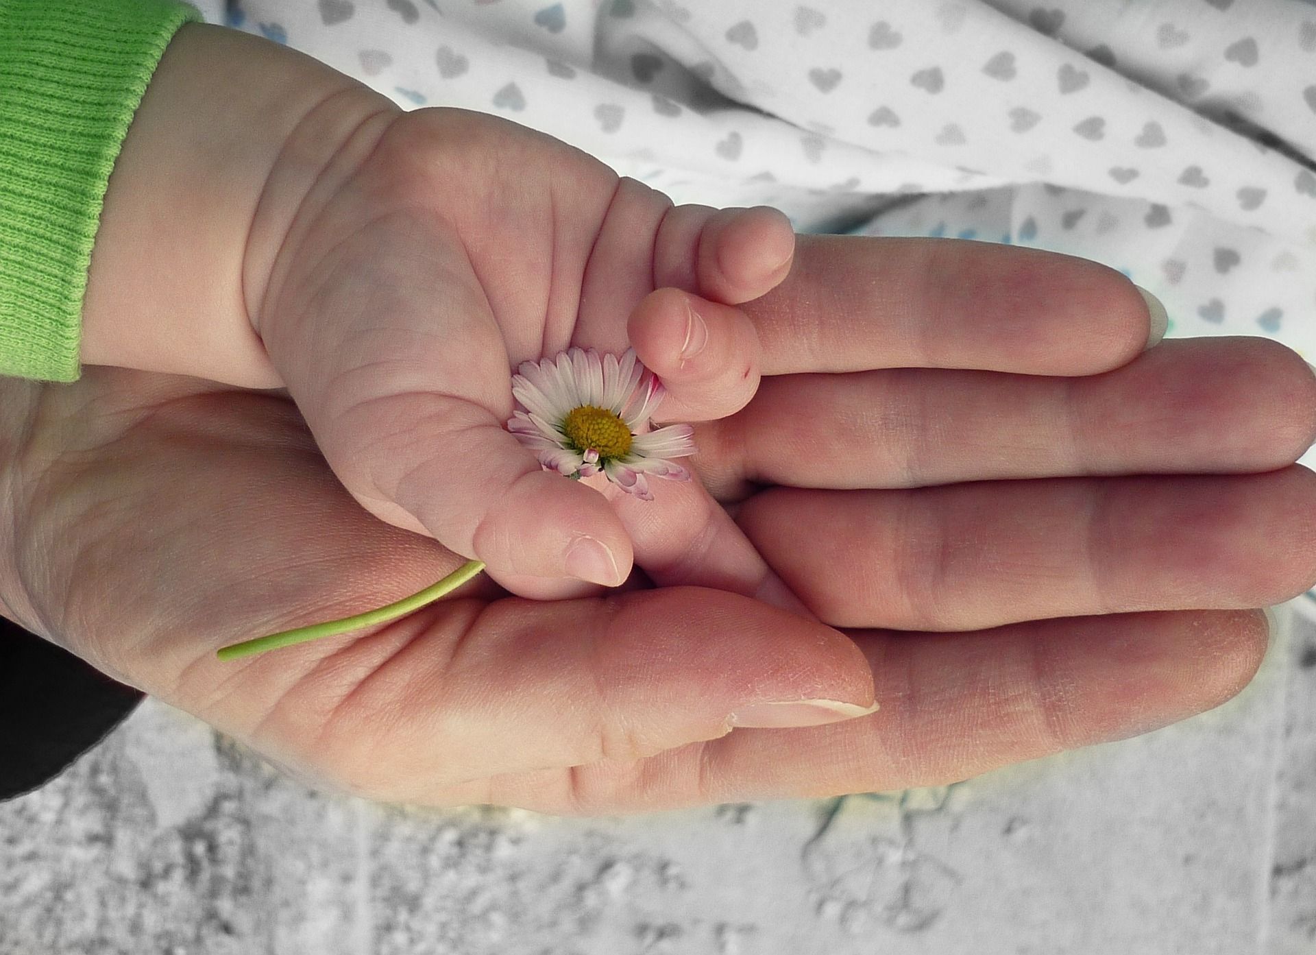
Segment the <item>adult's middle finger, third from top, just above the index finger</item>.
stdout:
<path fill-rule="evenodd" d="M 913 491 L 772 488 L 749 499 L 737 524 L 833 626 L 973 630 L 1234 609 L 1316 584 L 1316 474 L 1296 464 Z"/>

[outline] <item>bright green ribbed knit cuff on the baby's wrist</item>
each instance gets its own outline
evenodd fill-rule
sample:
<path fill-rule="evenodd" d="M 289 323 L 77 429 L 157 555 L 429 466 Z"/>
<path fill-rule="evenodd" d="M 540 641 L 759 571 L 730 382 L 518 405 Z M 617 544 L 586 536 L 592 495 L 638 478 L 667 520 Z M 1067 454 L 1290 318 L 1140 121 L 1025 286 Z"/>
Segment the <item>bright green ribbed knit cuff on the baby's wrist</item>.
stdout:
<path fill-rule="evenodd" d="M 76 381 L 109 174 L 179 0 L 0 0 L 0 375 Z"/>

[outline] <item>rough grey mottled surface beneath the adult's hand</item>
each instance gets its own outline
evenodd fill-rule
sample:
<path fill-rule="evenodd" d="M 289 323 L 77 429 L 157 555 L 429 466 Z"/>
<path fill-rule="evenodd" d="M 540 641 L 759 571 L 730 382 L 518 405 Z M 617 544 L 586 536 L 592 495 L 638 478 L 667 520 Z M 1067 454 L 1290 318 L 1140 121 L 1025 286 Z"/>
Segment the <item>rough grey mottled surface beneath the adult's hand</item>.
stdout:
<path fill-rule="evenodd" d="M 407 810 L 147 700 L 0 805 L 0 955 L 951 951 L 1316 952 L 1316 627 L 1211 713 L 940 789 Z"/>

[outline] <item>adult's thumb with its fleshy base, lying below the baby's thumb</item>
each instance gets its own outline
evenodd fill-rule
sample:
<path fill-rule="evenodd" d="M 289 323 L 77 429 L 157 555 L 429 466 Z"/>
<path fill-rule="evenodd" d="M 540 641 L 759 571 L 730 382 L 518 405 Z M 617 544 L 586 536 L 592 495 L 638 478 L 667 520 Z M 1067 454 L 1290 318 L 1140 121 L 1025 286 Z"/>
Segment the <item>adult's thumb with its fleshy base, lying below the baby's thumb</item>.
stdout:
<path fill-rule="evenodd" d="M 226 729 L 349 792 L 420 805 L 488 775 L 874 710 L 871 670 L 849 637 L 704 588 L 443 601 L 288 654 L 253 658 L 243 681 L 261 685 L 275 667 L 301 677 L 257 723 Z"/>

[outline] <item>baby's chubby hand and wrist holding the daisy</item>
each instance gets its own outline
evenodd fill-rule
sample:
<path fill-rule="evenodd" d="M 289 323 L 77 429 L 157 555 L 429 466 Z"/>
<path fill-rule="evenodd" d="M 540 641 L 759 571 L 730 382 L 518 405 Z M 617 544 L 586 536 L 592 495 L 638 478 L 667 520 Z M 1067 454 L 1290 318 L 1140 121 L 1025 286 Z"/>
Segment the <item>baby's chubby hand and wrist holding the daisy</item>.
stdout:
<path fill-rule="evenodd" d="M 221 62 L 240 89 L 215 88 Z M 732 414 L 759 380 L 734 305 L 786 276 L 794 238 L 775 210 L 674 208 L 533 130 L 407 113 L 292 50 L 191 25 L 116 164 L 83 360 L 284 387 L 367 510 L 521 596 L 578 596 L 561 577 L 622 583 L 630 538 L 507 430 L 513 370 L 633 346 L 666 420 Z M 583 535 L 601 547 L 574 550 Z"/>

